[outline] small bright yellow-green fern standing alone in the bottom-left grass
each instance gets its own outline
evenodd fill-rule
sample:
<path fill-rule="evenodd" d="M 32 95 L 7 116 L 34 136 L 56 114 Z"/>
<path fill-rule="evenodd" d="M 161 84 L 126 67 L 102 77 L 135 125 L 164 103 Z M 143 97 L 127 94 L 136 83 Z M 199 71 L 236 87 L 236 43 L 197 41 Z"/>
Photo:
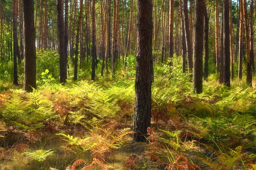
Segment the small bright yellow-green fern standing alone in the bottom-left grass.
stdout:
<path fill-rule="evenodd" d="M 49 149 L 49 150 L 36 150 L 35 152 L 24 152 L 23 154 L 29 157 L 30 159 L 42 162 L 44 161 L 48 156 L 53 155 L 55 150 Z"/>

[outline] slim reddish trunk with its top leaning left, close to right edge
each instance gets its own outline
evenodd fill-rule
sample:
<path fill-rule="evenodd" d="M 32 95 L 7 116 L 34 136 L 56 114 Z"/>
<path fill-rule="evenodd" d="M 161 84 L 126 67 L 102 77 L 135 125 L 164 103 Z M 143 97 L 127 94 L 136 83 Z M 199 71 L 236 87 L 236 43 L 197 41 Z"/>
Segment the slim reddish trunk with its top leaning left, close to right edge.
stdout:
<path fill-rule="evenodd" d="M 252 87 L 252 67 L 251 67 L 251 54 L 250 54 L 250 31 L 248 24 L 248 14 L 247 14 L 247 2 L 244 0 L 244 27 L 245 27 L 245 41 L 246 41 L 246 51 L 247 51 L 247 84 Z"/>

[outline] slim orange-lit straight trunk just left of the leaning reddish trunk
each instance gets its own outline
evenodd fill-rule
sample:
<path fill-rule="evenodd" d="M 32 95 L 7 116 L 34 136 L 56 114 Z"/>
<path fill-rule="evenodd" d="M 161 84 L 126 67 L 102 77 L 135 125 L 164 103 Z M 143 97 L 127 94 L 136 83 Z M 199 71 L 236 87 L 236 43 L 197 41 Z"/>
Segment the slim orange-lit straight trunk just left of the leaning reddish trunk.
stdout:
<path fill-rule="evenodd" d="M 243 26 L 244 26 L 244 7 L 243 0 L 239 0 L 240 8 L 240 26 L 239 26 L 239 68 L 238 68 L 238 77 L 242 79 L 242 70 L 243 70 Z"/>

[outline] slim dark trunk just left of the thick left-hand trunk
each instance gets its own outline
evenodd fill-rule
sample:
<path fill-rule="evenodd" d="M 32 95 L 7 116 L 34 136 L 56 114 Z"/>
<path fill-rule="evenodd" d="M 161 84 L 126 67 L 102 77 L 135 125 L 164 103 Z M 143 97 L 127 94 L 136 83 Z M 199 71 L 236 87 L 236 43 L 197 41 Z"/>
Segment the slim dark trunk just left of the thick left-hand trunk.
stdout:
<path fill-rule="evenodd" d="M 13 0 L 13 84 L 18 84 L 17 75 L 17 58 L 19 55 L 18 50 L 18 37 L 17 37 L 17 0 Z"/>

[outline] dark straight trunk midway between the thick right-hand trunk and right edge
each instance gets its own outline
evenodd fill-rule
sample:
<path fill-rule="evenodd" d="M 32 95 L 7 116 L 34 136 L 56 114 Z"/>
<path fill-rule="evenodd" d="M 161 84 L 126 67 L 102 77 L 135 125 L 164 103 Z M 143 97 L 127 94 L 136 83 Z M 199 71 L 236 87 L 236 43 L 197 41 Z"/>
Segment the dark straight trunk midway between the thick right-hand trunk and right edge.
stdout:
<path fill-rule="evenodd" d="M 223 1 L 223 53 L 224 53 L 224 85 L 230 87 L 230 8 L 229 0 Z"/>

